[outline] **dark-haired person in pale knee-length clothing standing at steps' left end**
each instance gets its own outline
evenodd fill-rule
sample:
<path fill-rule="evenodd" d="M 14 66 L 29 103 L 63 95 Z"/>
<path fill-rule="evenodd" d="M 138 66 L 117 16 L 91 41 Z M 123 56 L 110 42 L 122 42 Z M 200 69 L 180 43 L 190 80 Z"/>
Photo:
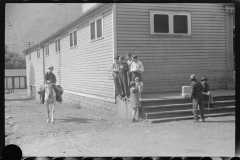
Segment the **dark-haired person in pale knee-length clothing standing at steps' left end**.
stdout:
<path fill-rule="evenodd" d="M 130 82 L 130 105 L 133 108 L 132 122 L 137 122 L 135 115 L 137 113 L 137 108 L 141 107 L 141 103 L 139 101 L 139 89 L 136 87 L 134 81 Z"/>

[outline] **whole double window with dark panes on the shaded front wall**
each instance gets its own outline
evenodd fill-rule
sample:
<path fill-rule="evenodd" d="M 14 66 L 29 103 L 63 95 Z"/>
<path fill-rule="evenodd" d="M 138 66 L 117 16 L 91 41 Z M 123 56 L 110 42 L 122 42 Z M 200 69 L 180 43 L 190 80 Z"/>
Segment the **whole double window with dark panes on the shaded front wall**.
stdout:
<path fill-rule="evenodd" d="M 191 14 L 150 11 L 151 35 L 191 35 Z"/>

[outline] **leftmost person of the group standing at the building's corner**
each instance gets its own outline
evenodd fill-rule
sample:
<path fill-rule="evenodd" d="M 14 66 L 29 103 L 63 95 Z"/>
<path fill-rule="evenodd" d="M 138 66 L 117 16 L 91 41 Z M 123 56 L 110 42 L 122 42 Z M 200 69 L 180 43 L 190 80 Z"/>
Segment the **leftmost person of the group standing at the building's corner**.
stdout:
<path fill-rule="evenodd" d="M 119 83 L 119 56 L 114 58 L 114 63 L 112 65 L 112 76 L 115 84 L 115 88 L 118 96 L 121 96 L 121 87 Z"/>

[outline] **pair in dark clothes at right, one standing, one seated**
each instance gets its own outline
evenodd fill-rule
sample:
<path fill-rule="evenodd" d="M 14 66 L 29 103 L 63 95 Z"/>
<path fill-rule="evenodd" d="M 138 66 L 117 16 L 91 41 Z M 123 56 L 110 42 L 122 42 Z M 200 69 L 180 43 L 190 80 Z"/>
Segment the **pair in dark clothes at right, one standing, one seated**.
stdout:
<path fill-rule="evenodd" d="M 208 102 L 210 107 L 215 108 L 212 92 L 209 88 L 209 84 L 207 83 L 208 79 L 206 77 L 202 77 L 201 82 L 198 82 L 197 77 L 194 74 L 190 76 L 190 79 L 192 81 L 190 86 L 192 88 L 191 99 L 193 103 L 194 122 L 204 122 L 204 101 Z M 200 119 L 198 115 L 200 115 Z"/>

